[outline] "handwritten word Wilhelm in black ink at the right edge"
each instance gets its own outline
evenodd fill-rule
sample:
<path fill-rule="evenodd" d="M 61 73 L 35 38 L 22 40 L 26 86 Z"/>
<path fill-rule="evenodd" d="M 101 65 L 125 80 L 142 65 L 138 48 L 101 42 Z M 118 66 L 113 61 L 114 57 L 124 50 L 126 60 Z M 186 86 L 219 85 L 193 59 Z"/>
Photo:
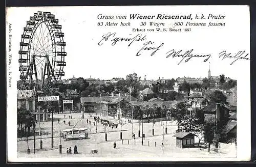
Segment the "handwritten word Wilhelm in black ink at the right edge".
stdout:
<path fill-rule="evenodd" d="M 238 51 L 237 53 L 234 53 L 233 55 L 231 53 L 227 53 L 226 50 L 222 51 L 219 53 L 219 58 L 222 58 L 222 60 L 224 59 L 234 59 L 233 62 L 230 63 L 230 65 L 234 64 L 234 62 L 238 61 L 238 60 L 250 60 L 249 58 L 247 58 L 247 55 L 249 53 L 245 53 L 245 51 Z"/>

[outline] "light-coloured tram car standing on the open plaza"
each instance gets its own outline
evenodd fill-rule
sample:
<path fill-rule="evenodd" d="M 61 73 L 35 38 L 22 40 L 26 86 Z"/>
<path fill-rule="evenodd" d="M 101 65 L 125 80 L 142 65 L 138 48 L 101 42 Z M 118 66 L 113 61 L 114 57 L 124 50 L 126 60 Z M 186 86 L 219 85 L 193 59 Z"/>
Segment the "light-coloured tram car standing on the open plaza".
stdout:
<path fill-rule="evenodd" d="M 87 128 L 72 128 L 63 130 L 62 137 L 65 141 L 68 140 L 78 140 L 78 139 L 87 139 L 88 132 Z"/>

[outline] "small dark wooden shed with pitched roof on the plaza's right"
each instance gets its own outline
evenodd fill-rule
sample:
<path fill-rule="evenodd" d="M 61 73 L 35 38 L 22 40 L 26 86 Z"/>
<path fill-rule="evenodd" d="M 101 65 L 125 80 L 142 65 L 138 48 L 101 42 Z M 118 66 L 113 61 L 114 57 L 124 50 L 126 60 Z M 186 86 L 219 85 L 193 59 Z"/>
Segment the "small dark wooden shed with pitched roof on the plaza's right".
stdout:
<path fill-rule="evenodd" d="M 194 147 L 195 145 L 195 134 L 190 132 L 178 132 L 175 135 L 176 146 L 179 148 Z"/>

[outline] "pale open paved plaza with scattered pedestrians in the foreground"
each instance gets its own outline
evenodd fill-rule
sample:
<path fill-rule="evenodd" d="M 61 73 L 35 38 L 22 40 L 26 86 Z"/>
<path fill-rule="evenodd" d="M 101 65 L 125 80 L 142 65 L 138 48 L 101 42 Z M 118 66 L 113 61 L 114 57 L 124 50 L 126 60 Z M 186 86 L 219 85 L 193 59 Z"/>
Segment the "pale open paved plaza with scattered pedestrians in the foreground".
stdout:
<path fill-rule="evenodd" d="M 64 118 L 65 115 L 65 118 Z M 72 119 L 69 119 L 72 116 Z M 132 137 L 132 124 L 128 123 L 128 119 L 123 118 L 125 124 L 122 126 L 122 140 L 120 140 L 120 125 L 118 128 L 106 128 L 108 134 L 108 141 L 105 141 L 104 127 L 101 123 L 93 125 L 95 114 L 92 117 L 88 113 L 84 114 L 84 119 L 81 119 L 79 113 L 65 113 L 65 114 L 54 114 L 54 147 L 51 147 L 51 121 L 40 122 L 41 125 L 41 140 L 42 149 L 40 149 L 40 136 L 36 136 L 36 152 L 34 154 L 34 136 L 30 136 L 28 143 L 30 154 L 27 154 L 27 139 L 25 137 L 19 138 L 17 142 L 18 156 L 19 157 L 202 157 L 202 156 L 221 156 L 221 157 L 233 157 L 236 156 L 236 146 L 234 144 L 221 144 L 219 151 L 207 151 L 207 148 L 177 148 L 176 137 L 173 137 L 177 130 L 176 122 L 167 121 L 163 119 L 162 126 L 161 122 L 158 121 L 154 124 L 155 133 L 152 135 L 152 122 L 143 123 L 143 133 L 145 139 L 138 137 L 139 123 L 138 120 L 134 120 L 133 131 L 135 133 L 135 140 Z M 103 118 L 100 115 L 97 117 Z M 59 119 L 59 123 L 58 123 Z M 91 120 L 91 125 L 87 123 L 87 119 Z M 118 123 L 113 117 L 105 118 L 114 123 Z M 63 121 L 66 121 L 64 124 Z M 68 122 L 70 121 L 70 126 Z M 146 121 L 146 120 L 145 120 Z M 76 124 L 77 123 L 77 124 Z M 63 138 L 59 137 L 59 131 L 64 129 L 75 127 L 86 127 L 88 128 L 89 139 L 83 140 L 70 140 L 64 141 Z M 165 124 L 167 125 L 167 134 L 165 134 Z M 140 124 L 141 130 L 141 124 Z M 36 131 L 39 131 L 39 123 L 36 124 Z M 163 135 L 164 132 L 164 135 Z M 116 148 L 113 148 L 113 144 L 116 142 Z M 195 137 L 195 143 L 198 142 Z M 164 150 L 162 150 L 162 143 Z M 59 154 L 59 144 L 62 145 L 62 154 Z M 74 146 L 77 146 L 78 154 L 73 154 Z M 67 148 L 71 147 L 72 154 L 67 154 Z M 91 154 L 91 150 L 98 150 L 97 154 Z"/>

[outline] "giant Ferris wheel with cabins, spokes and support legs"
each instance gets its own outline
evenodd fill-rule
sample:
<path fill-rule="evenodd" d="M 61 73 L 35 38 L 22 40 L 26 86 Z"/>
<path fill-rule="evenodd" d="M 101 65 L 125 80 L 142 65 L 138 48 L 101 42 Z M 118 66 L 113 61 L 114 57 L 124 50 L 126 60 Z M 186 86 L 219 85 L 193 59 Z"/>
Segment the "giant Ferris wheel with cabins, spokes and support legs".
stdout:
<path fill-rule="evenodd" d="M 44 92 L 61 83 L 67 52 L 58 21 L 50 12 L 34 13 L 27 21 L 18 51 L 22 89 Z"/>

